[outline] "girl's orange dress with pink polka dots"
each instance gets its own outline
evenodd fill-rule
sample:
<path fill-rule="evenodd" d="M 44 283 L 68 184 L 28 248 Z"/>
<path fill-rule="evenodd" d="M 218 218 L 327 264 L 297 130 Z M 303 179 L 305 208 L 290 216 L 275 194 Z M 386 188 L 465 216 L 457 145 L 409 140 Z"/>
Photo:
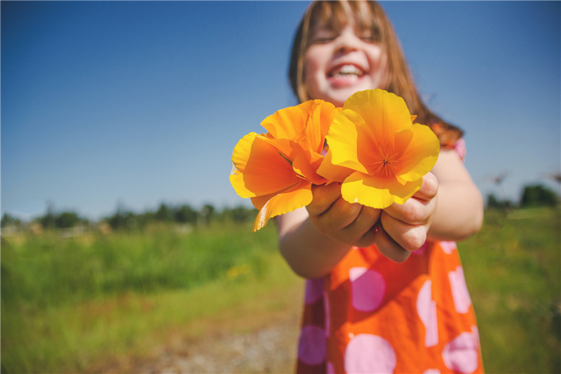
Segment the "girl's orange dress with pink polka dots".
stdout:
<path fill-rule="evenodd" d="M 454 145 L 464 159 L 464 140 Z M 482 373 L 479 334 L 454 241 L 398 264 L 353 247 L 306 280 L 297 373 Z"/>

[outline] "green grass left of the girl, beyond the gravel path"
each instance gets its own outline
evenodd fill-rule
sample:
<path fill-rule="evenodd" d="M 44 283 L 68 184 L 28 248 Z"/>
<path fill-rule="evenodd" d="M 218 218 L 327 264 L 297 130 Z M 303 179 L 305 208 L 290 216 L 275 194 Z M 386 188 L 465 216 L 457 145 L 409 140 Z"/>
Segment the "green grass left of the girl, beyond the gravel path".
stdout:
<path fill-rule="evenodd" d="M 5 373 L 88 370 L 299 281 L 276 251 L 273 225 L 255 234 L 245 226 L 189 234 L 162 227 L 86 241 L 48 233 L 19 245 L 3 239 L 1 255 Z"/>

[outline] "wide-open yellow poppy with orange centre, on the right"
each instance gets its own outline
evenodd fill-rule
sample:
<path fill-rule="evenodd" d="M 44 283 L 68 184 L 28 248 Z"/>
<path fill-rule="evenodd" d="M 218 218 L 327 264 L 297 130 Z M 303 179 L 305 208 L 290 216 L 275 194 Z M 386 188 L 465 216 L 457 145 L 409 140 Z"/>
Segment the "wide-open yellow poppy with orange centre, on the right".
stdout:
<path fill-rule="evenodd" d="M 327 133 L 329 151 L 318 173 L 342 183 L 343 199 L 372 208 L 405 203 L 438 159 L 438 138 L 412 123 L 405 101 L 383 90 L 346 100 Z"/>

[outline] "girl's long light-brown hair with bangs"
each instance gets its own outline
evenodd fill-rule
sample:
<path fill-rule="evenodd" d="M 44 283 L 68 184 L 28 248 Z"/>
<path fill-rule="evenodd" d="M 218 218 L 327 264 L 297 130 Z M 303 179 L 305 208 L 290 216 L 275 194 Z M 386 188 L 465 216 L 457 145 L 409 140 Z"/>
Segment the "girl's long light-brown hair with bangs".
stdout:
<path fill-rule="evenodd" d="M 349 14 L 351 13 L 351 14 Z M 387 86 L 379 87 L 401 96 L 411 114 L 417 115 L 416 122 L 431 126 L 440 139 L 441 145 L 450 146 L 461 138 L 463 131 L 443 121 L 422 102 L 407 67 L 396 32 L 386 17 L 384 10 L 375 1 L 314 1 L 300 21 L 292 43 L 292 55 L 288 76 L 290 86 L 299 102 L 312 98 L 304 84 L 304 61 L 311 44 L 311 33 L 315 27 L 329 27 L 339 32 L 352 17 L 359 30 L 371 29 L 374 42 L 379 43 L 388 58 Z"/>

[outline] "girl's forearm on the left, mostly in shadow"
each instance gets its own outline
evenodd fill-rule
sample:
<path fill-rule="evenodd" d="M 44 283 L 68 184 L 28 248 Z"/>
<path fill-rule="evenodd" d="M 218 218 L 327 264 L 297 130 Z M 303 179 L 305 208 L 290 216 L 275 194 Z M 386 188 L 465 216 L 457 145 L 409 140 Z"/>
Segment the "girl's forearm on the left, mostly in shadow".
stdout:
<path fill-rule="evenodd" d="M 320 234 L 305 216 L 305 209 L 287 215 L 291 214 L 297 215 L 295 222 L 286 215 L 277 219 L 281 255 L 299 276 L 310 279 L 324 276 L 342 260 L 351 246 Z"/>

